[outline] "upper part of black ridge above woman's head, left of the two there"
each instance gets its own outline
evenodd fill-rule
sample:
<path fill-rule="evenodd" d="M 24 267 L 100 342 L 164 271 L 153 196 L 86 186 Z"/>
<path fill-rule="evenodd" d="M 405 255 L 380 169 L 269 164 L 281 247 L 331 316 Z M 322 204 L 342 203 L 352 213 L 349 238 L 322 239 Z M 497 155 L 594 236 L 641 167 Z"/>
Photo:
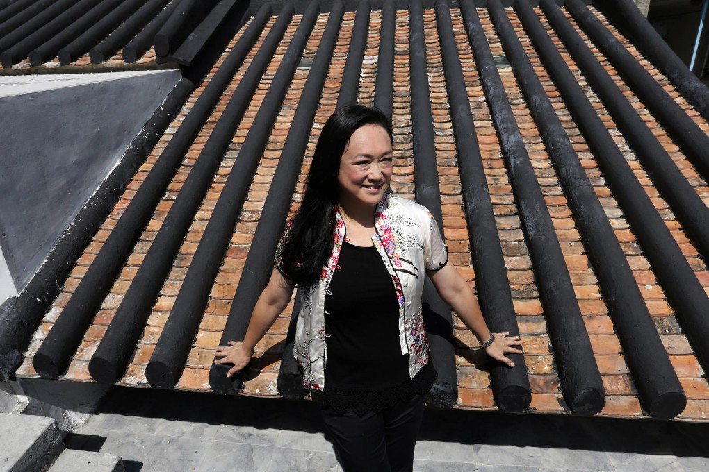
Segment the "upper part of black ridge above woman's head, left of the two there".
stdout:
<path fill-rule="evenodd" d="M 367 47 L 367 35 L 369 34 L 370 11 L 369 0 L 362 0 L 357 6 L 350 49 L 347 51 L 347 62 L 345 62 L 345 70 L 342 71 L 340 94 L 337 96 L 337 108 L 357 103 L 359 76 L 362 73 L 362 59 L 364 59 L 364 50 Z"/>

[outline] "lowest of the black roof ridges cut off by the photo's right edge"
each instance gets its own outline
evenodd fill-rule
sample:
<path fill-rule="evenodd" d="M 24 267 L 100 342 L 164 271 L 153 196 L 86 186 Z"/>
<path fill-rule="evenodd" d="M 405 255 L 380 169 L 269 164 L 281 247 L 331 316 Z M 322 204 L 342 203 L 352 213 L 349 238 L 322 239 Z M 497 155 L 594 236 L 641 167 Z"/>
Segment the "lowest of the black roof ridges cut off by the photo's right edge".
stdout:
<path fill-rule="evenodd" d="M 707 294 L 536 13 L 527 8 L 523 1 L 518 1 L 515 10 L 549 76 L 562 94 L 566 107 L 586 138 L 608 188 L 630 223 L 700 364 L 709 370 Z"/>

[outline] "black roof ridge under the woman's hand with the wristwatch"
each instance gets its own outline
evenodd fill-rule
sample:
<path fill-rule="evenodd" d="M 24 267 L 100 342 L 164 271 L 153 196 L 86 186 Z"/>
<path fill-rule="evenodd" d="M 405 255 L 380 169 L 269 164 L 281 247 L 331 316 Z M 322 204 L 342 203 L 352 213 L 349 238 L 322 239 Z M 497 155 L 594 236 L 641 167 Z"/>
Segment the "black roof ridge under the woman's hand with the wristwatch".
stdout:
<path fill-rule="evenodd" d="M 493 333 L 517 336 L 520 330 L 509 289 L 510 282 L 447 1 L 437 1 L 435 11 L 465 216 L 467 221 L 474 222 L 468 225 L 468 233 L 481 310 Z M 524 355 L 509 354 L 507 357 L 515 363 L 512 369 L 501 362 L 493 362 L 491 365 L 493 396 L 500 410 L 523 411 L 532 402 Z"/>

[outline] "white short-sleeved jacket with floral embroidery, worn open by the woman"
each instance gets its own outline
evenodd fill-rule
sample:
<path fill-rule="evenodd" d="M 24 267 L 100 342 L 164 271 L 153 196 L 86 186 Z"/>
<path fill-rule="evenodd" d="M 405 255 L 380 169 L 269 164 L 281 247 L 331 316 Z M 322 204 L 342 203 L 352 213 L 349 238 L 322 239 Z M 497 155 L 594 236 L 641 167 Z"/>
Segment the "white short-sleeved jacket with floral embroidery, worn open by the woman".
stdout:
<path fill-rule="evenodd" d="M 294 343 L 294 356 L 303 368 L 303 385 L 318 391 L 325 388 L 325 295 L 345 239 L 345 223 L 337 207 L 335 219 L 333 253 L 323 267 L 320 280 L 300 291 L 302 308 L 298 313 Z M 396 289 L 399 344 L 401 353 L 409 354 L 408 372 L 413 379 L 429 358 L 421 311 L 424 270 L 443 267 L 448 260 L 447 249 L 428 209 L 401 197 L 384 194 L 376 207 L 374 226 L 374 247 L 384 260 Z M 279 244 L 277 266 L 280 253 Z"/>

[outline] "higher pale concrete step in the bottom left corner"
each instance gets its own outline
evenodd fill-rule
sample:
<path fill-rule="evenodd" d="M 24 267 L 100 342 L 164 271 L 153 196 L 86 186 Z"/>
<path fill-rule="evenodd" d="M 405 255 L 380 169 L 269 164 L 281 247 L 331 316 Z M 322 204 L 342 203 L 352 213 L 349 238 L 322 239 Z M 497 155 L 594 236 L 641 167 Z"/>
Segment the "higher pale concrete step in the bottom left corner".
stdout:
<path fill-rule="evenodd" d="M 45 472 L 64 449 L 52 418 L 0 414 L 0 472 Z"/>

